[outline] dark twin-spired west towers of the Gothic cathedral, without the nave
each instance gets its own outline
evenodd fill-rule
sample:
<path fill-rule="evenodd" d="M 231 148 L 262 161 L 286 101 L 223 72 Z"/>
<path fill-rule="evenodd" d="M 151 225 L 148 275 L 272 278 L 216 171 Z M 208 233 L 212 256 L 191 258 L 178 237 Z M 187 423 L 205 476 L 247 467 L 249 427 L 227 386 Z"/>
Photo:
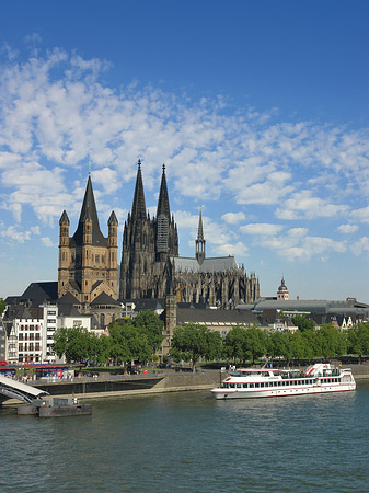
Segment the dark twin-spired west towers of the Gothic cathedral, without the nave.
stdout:
<path fill-rule="evenodd" d="M 138 161 L 135 196 L 123 233 L 120 299 L 162 298 L 169 291 L 169 257 L 178 255 L 178 234 L 171 217 L 163 165 L 157 217 L 145 203 L 141 162 Z"/>

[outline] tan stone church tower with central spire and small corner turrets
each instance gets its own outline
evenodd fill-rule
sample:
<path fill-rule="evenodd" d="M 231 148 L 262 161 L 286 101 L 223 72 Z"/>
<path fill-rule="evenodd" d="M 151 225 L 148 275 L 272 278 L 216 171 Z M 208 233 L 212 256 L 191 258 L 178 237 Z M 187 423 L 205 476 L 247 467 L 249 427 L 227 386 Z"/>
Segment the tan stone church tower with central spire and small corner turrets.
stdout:
<path fill-rule="evenodd" d="M 96 205 L 89 175 L 77 231 L 69 237 L 69 218 L 59 220 L 58 297 L 71 293 L 81 303 L 91 303 L 105 293 L 117 298 L 117 230 L 112 211 L 105 238 L 99 226 Z"/>

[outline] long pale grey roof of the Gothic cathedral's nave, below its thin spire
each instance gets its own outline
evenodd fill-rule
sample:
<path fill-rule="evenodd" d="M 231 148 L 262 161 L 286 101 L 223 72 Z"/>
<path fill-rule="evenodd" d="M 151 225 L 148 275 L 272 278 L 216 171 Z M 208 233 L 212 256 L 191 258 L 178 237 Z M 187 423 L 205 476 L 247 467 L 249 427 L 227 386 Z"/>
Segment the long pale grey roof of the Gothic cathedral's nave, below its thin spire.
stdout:
<path fill-rule="evenodd" d="M 204 259 L 199 264 L 197 259 L 173 256 L 171 257 L 176 273 L 221 273 L 239 270 L 234 256 L 217 256 Z"/>

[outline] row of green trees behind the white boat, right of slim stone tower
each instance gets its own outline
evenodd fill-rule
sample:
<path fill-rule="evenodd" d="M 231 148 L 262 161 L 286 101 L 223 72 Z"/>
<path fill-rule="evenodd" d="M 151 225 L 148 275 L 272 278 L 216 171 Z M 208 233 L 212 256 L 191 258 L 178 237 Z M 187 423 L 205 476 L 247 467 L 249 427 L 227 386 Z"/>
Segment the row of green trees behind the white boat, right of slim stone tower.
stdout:
<path fill-rule="evenodd" d="M 289 331 L 265 332 L 256 326 L 231 329 L 224 340 L 206 328 L 187 325 L 175 329 L 171 354 L 175 359 L 192 360 L 217 358 L 245 363 L 268 355 L 291 359 L 333 358 L 346 354 L 369 354 L 369 324 L 359 323 L 349 331 L 331 324 L 314 330 L 314 324 L 295 333 Z"/>

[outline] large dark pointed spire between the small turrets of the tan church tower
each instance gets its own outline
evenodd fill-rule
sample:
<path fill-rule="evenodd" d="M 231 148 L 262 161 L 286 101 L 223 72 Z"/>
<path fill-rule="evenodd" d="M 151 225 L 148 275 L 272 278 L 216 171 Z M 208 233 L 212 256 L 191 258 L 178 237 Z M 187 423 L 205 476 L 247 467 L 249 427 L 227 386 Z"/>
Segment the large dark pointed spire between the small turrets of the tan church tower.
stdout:
<path fill-rule="evenodd" d="M 106 238 L 103 237 L 97 218 L 97 210 L 95 198 L 93 195 L 91 176 L 89 175 L 88 185 L 85 187 L 83 204 L 80 214 L 80 220 L 77 231 L 73 234 L 73 240 L 77 245 L 83 244 L 83 225 L 85 221 L 91 221 L 92 227 L 92 243 L 95 246 L 106 246 Z"/>

